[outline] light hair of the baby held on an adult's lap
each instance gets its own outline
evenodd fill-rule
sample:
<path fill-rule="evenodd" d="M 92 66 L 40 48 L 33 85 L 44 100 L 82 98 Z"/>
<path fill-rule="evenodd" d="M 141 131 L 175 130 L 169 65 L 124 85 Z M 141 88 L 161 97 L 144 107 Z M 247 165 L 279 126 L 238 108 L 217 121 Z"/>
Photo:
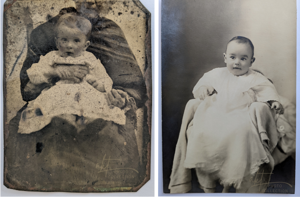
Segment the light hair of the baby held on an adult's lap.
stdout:
<path fill-rule="evenodd" d="M 78 16 L 78 14 L 74 12 L 66 13 L 58 19 L 56 33 L 58 33 L 58 27 L 61 25 L 79 30 L 87 37 L 87 40 L 89 39 L 92 30 L 91 22 L 86 18 Z"/>

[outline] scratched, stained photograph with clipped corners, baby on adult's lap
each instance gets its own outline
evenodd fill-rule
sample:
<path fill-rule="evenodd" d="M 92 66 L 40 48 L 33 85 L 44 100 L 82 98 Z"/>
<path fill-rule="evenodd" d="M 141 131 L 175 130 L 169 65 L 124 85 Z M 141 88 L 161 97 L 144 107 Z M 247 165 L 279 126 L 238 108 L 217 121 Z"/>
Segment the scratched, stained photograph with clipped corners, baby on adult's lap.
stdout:
<path fill-rule="evenodd" d="M 4 185 L 138 191 L 150 179 L 151 21 L 139 1 L 4 4 Z"/>

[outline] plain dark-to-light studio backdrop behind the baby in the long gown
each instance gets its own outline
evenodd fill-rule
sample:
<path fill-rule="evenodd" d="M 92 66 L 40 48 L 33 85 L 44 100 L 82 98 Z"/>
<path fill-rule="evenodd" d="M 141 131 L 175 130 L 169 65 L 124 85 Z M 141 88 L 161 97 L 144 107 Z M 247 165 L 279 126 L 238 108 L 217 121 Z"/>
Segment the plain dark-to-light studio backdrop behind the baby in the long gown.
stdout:
<path fill-rule="evenodd" d="M 252 41 L 252 68 L 296 104 L 296 1 L 163 0 L 162 18 L 163 187 L 168 192 L 184 107 L 204 73 L 226 66 L 222 54 L 232 37 Z"/>

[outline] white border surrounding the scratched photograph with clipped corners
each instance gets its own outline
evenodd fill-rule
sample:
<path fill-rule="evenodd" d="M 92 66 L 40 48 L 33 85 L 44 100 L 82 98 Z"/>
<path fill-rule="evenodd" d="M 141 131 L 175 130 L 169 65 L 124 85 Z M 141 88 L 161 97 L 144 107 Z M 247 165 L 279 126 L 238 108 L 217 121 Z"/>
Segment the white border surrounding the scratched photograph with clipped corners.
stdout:
<path fill-rule="evenodd" d="M 154 97 L 154 79 L 155 79 L 155 2 L 154 0 L 140 0 L 140 2 L 148 9 L 148 11 L 151 13 L 151 46 L 152 46 L 152 136 L 151 136 L 151 179 L 137 192 L 113 192 L 113 193 L 69 193 L 69 192 L 30 192 L 30 191 L 19 191 L 19 190 L 12 190 L 8 189 L 3 185 L 3 158 L 4 158 L 4 145 L 3 145 L 3 82 L 2 82 L 2 76 L 3 76 L 3 8 L 4 8 L 4 2 L 5 0 L 0 0 L 0 196 L 1 197 L 20 197 L 20 196 L 28 196 L 28 197 L 35 197 L 35 196 L 155 196 L 155 175 L 154 175 L 154 161 L 155 161 L 155 122 L 154 122 L 154 106 L 155 106 L 155 97 Z"/>

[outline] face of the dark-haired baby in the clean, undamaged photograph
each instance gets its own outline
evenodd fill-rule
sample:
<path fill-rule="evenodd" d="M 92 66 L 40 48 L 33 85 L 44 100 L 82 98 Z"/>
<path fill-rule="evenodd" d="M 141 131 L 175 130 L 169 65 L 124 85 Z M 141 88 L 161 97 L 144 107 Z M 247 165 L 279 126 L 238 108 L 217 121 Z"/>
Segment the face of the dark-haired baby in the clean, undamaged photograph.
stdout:
<path fill-rule="evenodd" d="M 251 46 L 236 41 L 231 41 L 228 44 L 223 56 L 229 72 L 237 76 L 246 74 L 255 60 L 252 58 Z"/>

